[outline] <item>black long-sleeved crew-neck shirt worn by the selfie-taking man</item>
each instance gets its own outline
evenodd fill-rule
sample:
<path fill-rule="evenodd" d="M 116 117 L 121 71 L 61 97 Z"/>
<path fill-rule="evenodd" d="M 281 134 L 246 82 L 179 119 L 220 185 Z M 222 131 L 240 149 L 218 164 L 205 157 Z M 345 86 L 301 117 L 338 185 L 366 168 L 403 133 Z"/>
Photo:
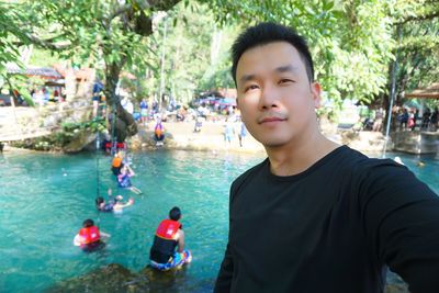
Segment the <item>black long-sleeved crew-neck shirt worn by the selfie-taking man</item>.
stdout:
<path fill-rule="evenodd" d="M 439 198 L 404 166 L 339 147 L 302 173 L 269 160 L 230 188 L 215 292 L 439 292 Z"/>

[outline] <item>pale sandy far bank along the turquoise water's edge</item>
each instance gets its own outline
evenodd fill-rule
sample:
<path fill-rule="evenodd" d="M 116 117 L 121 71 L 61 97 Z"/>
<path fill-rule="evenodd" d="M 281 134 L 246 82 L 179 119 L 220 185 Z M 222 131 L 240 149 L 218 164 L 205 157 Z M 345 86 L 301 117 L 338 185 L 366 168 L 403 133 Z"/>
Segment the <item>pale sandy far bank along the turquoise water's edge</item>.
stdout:
<path fill-rule="evenodd" d="M 127 139 L 128 148 L 136 151 L 164 149 L 200 150 L 214 153 L 244 153 L 264 155 L 263 146 L 257 142 L 250 134 L 243 139 L 239 145 L 237 133 L 230 143 L 224 139 L 224 123 L 205 122 L 201 132 L 194 132 L 192 122 L 168 122 L 165 126 L 165 140 L 162 146 L 156 146 L 154 139 L 154 122 L 146 125 L 138 125 L 138 133 Z M 384 146 L 384 136 L 378 132 L 356 132 L 352 129 L 337 129 L 333 124 L 322 126 L 322 132 L 329 139 L 362 153 L 381 153 Z M 52 136 L 57 135 L 56 133 Z M 95 134 L 90 133 L 87 139 L 78 139 L 76 147 L 50 146 L 53 138 L 50 136 L 27 139 L 15 144 L 5 144 L 4 151 L 29 151 L 27 147 L 49 153 L 78 153 L 80 150 L 94 149 Z M 36 146 L 36 147 L 35 147 Z"/>

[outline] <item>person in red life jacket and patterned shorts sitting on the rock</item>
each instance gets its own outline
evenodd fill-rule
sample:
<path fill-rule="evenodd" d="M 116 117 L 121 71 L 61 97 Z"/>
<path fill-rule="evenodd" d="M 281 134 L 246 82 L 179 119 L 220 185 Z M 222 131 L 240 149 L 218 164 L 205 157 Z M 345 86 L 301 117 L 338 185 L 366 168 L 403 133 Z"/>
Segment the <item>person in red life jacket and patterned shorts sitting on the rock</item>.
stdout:
<path fill-rule="evenodd" d="M 149 260 L 150 266 L 159 271 L 180 268 L 192 260 L 191 252 L 184 249 L 184 232 L 180 219 L 181 211 L 175 206 L 169 211 L 169 218 L 161 221 L 157 227 Z"/>

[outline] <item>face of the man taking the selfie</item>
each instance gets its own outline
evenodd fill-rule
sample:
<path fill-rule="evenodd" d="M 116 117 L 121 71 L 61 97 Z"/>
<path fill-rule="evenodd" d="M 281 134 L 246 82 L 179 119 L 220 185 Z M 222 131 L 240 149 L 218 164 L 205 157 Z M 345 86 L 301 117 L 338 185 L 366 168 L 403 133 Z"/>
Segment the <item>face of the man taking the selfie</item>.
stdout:
<path fill-rule="evenodd" d="M 246 50 L 236 70 L 238 109 L 266 147 L 307 139 L 316 131 L 320 88 L 309 83 L 299 52 L 286 42 Z M 303 140 L 304 142 L 304 140 Z"/>

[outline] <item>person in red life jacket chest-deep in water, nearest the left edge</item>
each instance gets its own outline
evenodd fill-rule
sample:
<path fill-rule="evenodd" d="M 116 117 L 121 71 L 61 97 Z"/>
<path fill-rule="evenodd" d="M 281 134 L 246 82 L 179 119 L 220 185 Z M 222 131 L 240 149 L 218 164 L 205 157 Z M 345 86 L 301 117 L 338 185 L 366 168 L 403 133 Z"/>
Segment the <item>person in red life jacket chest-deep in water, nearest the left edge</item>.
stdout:
<path fill-rule="evenodd" d="M 110 237 L 110 234 L 100 232 L 91 218 L 82 223 L 82 228 L 75 236 L 74 245 L 81 247 L 83 251 L 91 252 L 105 247 L 101 238 Z"/>

